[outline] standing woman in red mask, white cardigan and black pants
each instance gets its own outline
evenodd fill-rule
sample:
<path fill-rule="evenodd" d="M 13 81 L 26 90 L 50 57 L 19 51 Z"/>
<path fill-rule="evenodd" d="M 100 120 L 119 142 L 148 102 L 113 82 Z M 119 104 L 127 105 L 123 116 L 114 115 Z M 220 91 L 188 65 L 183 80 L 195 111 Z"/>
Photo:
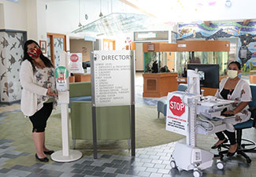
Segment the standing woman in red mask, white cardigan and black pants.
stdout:
<path fill-rule="evenodd" d="M 45 128 L 52 109 L 57 105 L 54 65 L 43 55 L 39 44 L 28 40 L 24 44 L 24 58 L 20 68 L 22 87 L 21 111 L 32 122 L 35 158 L 47 162 L 46 154 L 54 153 L 45 146 Z"/>

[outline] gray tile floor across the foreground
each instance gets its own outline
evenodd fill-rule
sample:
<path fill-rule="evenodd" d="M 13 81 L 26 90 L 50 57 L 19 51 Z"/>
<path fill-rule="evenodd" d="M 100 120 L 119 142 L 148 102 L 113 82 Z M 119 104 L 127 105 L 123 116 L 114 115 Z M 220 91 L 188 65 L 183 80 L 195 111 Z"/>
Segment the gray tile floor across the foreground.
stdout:
<path fill-rule="evenodd" d="M 192 171 L 171 169 L 169 163 L 176 142 L 136 149 L 135 157 L 99 153 L 96 160 L 91 155 L 69 163 L 38 162 L 32 166 L 13 164 L 10 168 L 2 168 L 9 159 L 29 154 L 15 151 L 12 143 L 11 140 L 0 140 L 0 176 L 193 176 Z M 250 157 L 251 164 L 239 156 L 224 158 L 224 170 L 218 170 L 214 162 L 202 176 L 256 176 L 256 154 L 250 154 Z"/>

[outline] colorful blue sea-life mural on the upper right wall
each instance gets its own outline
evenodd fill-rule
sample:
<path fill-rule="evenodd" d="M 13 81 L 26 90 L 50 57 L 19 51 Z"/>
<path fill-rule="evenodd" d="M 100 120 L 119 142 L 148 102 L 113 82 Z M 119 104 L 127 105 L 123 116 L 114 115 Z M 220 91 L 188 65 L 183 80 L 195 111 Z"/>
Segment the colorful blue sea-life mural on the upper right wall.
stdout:
<path fill-rule="evenodd" d="M 179 24 L 178 40 L 218 38 L 239 38 L 238 57 L 245 69 L 256 67 L 256 22 L 251 21 L 247 26 L 243 22 Z"/>

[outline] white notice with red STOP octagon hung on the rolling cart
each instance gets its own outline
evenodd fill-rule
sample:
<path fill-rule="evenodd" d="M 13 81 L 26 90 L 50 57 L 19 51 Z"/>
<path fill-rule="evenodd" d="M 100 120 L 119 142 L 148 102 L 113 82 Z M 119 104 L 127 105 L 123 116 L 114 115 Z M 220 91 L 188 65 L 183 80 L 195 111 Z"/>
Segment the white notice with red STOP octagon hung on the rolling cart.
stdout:
<path fill-rule="evenodd" d="M 183 94 L 172 92 L 167 97 L 166 130 L 180 135 L 187 135 L 188 108 L 184 105 Z"/>

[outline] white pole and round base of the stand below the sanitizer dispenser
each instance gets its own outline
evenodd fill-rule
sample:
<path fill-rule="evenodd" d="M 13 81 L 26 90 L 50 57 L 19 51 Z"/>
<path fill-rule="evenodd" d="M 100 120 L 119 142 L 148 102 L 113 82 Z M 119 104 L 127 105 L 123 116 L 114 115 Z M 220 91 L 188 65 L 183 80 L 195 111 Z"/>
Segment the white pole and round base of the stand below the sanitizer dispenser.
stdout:
<path fill-rule="evenodd" d="M 59 92 L 58 97 L 61 103 L 62 150 L 51 154 L 50 158 L 57 162 L 75 161 L 82 157 L 82 153 L 69 149 L 69 91 Z"/>

